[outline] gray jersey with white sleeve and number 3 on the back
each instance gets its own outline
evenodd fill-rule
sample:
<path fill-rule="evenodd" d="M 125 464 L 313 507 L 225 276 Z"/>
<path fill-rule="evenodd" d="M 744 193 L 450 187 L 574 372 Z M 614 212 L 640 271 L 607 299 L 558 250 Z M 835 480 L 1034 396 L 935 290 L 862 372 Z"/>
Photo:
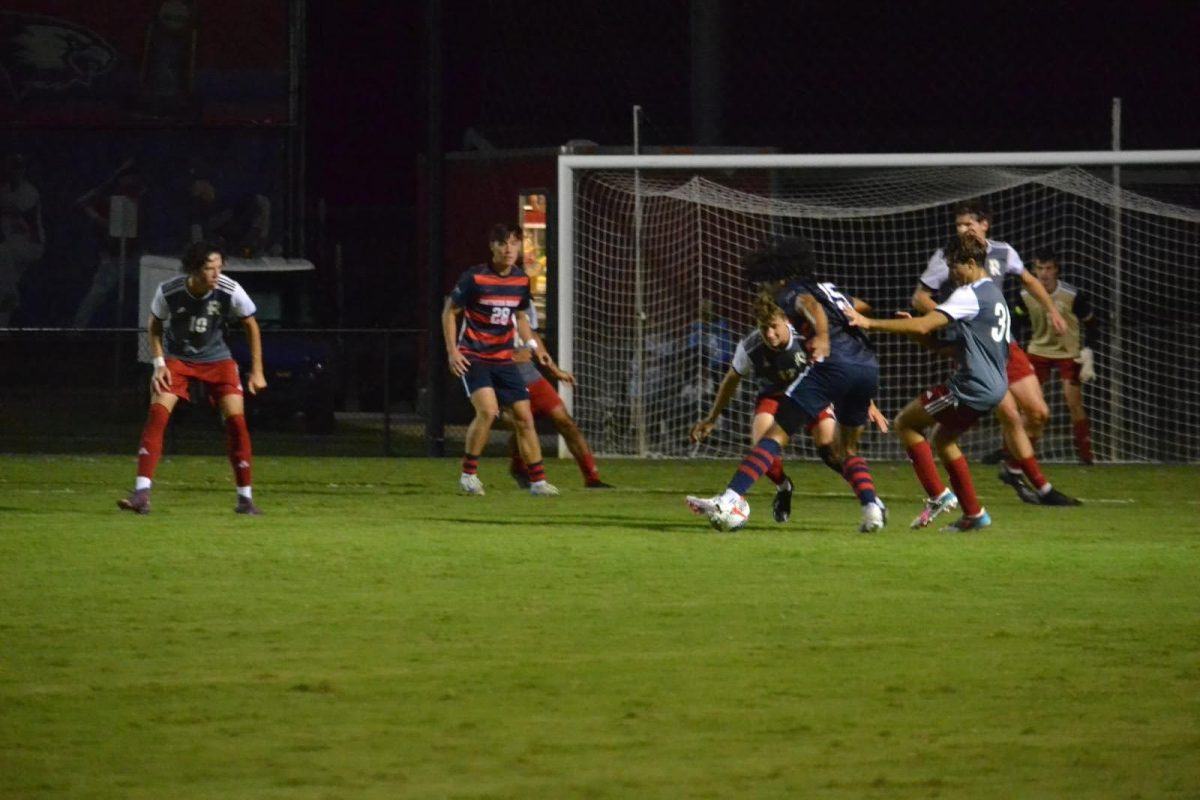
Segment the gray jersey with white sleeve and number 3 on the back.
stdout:
<path fill-rule="evenodd" d="M 990 278 L 959 287 L 937 306 L 950 318 L 959 368 L 947 381 L 950 393 L 978 411 L 996 408 L 1008 391 L 1009 315 L 1004 295 Z"/>

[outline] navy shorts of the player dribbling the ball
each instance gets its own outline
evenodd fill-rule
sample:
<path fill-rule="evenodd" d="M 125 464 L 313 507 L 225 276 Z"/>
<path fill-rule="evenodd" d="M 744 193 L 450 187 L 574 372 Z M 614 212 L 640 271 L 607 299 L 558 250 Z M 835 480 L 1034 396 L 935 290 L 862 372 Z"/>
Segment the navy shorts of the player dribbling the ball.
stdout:
<path fill-rule="evenodd" d="M 793 435 L 833 404 L 839 425 L 859 428 L 866 425 L 866 409 L 870 408 L 871 399 L 878 390 L 877 363 L 827 359 L 809 365 L 809 368 L 787 386 L 784 395 L 791 402 L 779 404 L 775 421 L 787 435 Z"/>

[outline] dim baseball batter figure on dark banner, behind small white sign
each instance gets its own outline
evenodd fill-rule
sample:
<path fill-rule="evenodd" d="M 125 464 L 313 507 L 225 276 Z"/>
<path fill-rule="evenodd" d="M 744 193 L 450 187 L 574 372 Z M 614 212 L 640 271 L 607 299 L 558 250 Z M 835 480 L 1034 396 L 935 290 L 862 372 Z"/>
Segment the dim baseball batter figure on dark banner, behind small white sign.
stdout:
<path fill-rule="evenodd" d="M 136 288 L 138 259 L 142 255 L 142 237 L 138 235 L 138 203 L 146 186 L 133 158 L 121 164 L 103 184 L 89 190 L 76 201 L 91 223 L 100 241 L 100 264 L 91 288 L 76 309 L 74 326 L 86 327 L 96 311 L 113 294 L 125 272 L 125 296 Z M 121 234 L 133 234 L 132 236 Z M 124 240 L 124 252 L 122 243 Z M 118 293 L 119 295 L 121 293 Z M 121 309 L 113 314 L 113 324 L 122 321 Z"/>

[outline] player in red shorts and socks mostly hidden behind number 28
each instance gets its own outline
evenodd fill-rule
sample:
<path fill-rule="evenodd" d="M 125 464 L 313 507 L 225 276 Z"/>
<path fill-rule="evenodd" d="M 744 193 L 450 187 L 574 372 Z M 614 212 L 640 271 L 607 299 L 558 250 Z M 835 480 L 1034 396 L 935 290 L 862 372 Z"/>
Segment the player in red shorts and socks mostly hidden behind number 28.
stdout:
<path fill-rule="evenodd" d="M 613 486 L 611 483 L 605 483 L 600 480 L 600 471 L 596 469 L 596 459 L 592 453 L 592 447 L 588 445 L 588 440 L 583 437 L 583 432 L 580 431 L 580 426 L 575 423 L 570 413 L 566 410 L 566 405 L 563 404 L 563 398 L 558 396 L 554 391 L 554 386 L 546 380 L 545 375 L 538 369 L 534 363 L 535 353 L 545 353 L 547 360 L 542 363 L 546 371 L 554 378 L 554 380 L 562 380 L 563 383 L 575 385 L 575 375 L 562 369 L 556 362 L 553 356 L 546 349 L 546 342 L 542 341 L 541 335 L 538 333 L 538 311 L 530 306 L 529 311 L 529 326 L 533 330 L 533 338 L 529 341 L 522 339 L 520 336 L 514 342 L 512 361 L 517 365 L 517 369 L 521 371 L 521 375 L 524 378 L 526 386 L 529 387 L 529 408 L 533 411 L 534 419 L 541 416 L 548 419 L 558 434 L 563 437 L 566 443 L 566 449 L 571 451 L 571 456 L 575 457 L 575 463 L 580 465 L 580 471 L 583 474 L 583 487 L 588 489 L 611 489 Z M 505 425 L 511 426 L 512 420 L 508 413 L 502 416 Z M 517 447 L 516 434 L 509 438 L 509 474 L 512 480 L 517 482 L 521 488 L 529 488 L 529 470 L 526 468 L 524 461 L 521 458 L 521 450 Z"/>

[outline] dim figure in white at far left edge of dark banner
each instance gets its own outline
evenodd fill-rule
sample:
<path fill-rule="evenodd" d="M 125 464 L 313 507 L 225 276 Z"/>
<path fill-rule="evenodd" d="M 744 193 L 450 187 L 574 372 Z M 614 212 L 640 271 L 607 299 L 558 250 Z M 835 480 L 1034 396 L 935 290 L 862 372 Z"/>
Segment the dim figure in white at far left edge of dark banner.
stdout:
<path fill-rule="evenodd" d="M 20 305 L 20 278 L 46 252 L 42 197 L 25 178 L 26 158 L 10 154 L 0 166 L 0 327 Z"/>

